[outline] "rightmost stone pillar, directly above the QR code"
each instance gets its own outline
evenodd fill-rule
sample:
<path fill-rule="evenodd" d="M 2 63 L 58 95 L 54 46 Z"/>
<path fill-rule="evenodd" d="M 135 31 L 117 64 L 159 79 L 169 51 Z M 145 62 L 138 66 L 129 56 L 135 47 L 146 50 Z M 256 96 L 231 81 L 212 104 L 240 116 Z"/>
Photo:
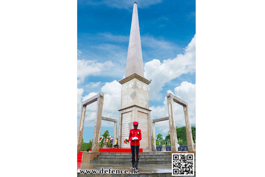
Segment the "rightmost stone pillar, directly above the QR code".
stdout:
<path fill-rule="evenodd" d="M 188 113 L 188 104 L 187 106 L 183 106 L 183 110 L 184 110 L 185 124 L 186 124 L 187 145 L 188 145 L 188 151 L 190 152 L 190 151 L 194 151 L 194 148 L 193 148 L 193 141 L 192 141 L 190 117 Z"/>

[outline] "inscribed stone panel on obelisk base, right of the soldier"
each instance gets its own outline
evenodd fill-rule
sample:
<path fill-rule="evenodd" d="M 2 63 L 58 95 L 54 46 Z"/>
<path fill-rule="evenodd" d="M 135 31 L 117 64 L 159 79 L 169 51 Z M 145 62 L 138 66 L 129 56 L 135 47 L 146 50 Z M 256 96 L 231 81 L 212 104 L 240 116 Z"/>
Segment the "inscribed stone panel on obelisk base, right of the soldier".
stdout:
<path fill-rule="evenodd" d="M 140 140 L 140 148 L 149 149 L 149 131 L 148 131 L 148 114 L 138 111 L 138 129 L 142 132 L 142 140 Z"/>

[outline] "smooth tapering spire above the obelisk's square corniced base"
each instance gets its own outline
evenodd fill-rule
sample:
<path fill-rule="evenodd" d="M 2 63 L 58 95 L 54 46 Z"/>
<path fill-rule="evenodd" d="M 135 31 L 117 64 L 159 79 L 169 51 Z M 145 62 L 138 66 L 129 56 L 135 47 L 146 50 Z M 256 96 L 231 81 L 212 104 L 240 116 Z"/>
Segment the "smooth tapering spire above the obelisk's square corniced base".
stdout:
<path fill-rule="evenodd" d="M 132 74 L 137 74 L 144 78 L 143 56 L 136 2 L 133 5 L 132 11 L 132 24 L 127 54 L 125 78 L 131 76 Z"/>

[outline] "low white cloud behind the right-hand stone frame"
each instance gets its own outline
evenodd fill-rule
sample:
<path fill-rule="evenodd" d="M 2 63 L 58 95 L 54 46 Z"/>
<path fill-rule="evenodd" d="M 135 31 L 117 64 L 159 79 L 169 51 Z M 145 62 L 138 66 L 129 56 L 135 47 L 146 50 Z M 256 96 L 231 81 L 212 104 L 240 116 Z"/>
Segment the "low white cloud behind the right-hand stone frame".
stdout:
<path fill-rule="evenodd" d="M 174 89 L 174 95 L 178 98 L 182 99 L 183 101 L 188 102 L 189 108 L 189 117 L 190 117 L 190 124 L 191 126 L 195 126 L 196 124 L 196 84 L 189 83 L 184 81 L 181 83 L 180 86 Z M 168 93 L 172 93 L 172 91 L 168 90 Z M 164 98 L 163 106 L 151 106 L 151 119 L 158 119 L 162 117 L 168 117 L 168 106 L 167 106 L 167 99 Z M 174 102 L 174 114 L 175 114 L 175 122 L 176 126 L 182 127 L 185 126 L 185 119 L 184 119 L 184 112 L 183 106 Z M 168 121 L 161 121 L 155 123 L 156 132 L 162 132 L 167 134 L 169 131 Z M 156 133 L 158 134 L 158 133 Z"/>

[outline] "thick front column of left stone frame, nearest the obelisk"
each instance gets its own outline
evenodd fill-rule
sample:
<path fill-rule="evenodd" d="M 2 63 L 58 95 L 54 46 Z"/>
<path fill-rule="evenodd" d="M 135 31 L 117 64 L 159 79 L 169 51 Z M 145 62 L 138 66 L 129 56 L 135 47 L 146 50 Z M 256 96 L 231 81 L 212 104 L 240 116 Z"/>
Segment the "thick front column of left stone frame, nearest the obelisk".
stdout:
<path fill-rule="evenodd" d="M 103 97 L 104 97 L 104 94 L 101 93 L 100 96 L 97 98 L 97 112 L 96 112 L 93 142 L 92 142 L 93 153 L 99 152 L 99 139 L 100 139 L 100 129 L 101 129 L 101 119 L 102 119 Z"/>

